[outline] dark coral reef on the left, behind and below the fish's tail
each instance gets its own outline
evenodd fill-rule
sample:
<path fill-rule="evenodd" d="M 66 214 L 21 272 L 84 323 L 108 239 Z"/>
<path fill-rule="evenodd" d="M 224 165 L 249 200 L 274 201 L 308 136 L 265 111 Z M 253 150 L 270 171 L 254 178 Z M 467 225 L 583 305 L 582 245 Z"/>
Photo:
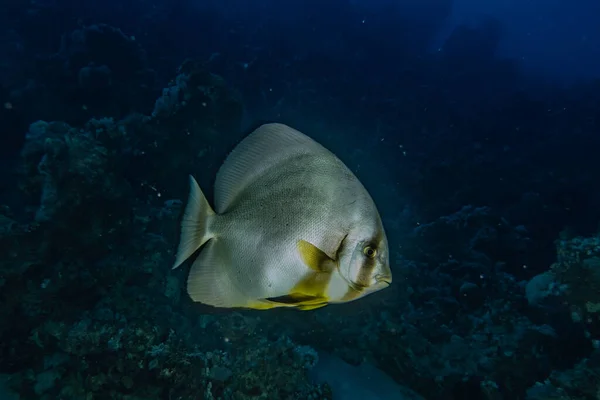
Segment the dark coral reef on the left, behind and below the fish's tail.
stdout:
<path fill-rule="evenodd" d="M 1 352 L 25 368 L 11 379 L 22 398 L 326 398 L 307 375 L 316 352 L 247 335 L 244 318 L 193 325 L 176 308 L 181 274 L 164 268 L 173 240 L 163 229 L 176 230 L 181 201 L 167 195 L 181 188 L 173 177 L 210 163 L 217 132 L 236 136 L 242 110 L 199 64 L 177 82 L 153 116 L 29 129 L 25 202 L 0 220 L 2 318 L 19 321 L 2 324 Z M 175 149 L 186 153 L 162 157 Z M 221 339 L 198 340 L 208 332 Z"/>

